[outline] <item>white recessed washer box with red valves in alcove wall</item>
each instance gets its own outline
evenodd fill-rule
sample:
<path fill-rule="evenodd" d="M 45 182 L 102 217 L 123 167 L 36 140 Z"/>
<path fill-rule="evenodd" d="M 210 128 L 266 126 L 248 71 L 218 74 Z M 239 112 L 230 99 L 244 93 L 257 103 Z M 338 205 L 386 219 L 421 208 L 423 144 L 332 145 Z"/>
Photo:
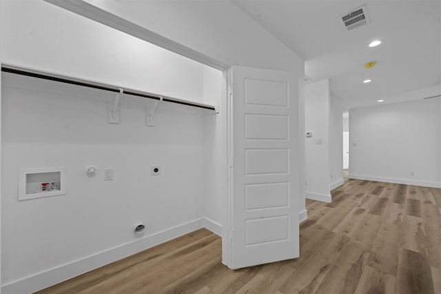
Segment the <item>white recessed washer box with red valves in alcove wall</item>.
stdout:
<path fill-rule="evenodd" d="M 65 194 L 65 167 L 19 170 L 19 201 Z"/>

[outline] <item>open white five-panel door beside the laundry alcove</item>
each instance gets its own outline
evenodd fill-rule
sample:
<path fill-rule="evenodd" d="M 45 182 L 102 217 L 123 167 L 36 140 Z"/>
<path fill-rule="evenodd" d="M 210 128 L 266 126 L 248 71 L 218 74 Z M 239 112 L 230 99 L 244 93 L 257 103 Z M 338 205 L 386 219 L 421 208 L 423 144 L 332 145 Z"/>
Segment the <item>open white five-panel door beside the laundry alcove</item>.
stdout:
<path fill-rule="evenodd" d="M 298 257 L 298 82 L 289 72 L 234 66 L 229 84 L 223 262 L 243 268 Z"/>

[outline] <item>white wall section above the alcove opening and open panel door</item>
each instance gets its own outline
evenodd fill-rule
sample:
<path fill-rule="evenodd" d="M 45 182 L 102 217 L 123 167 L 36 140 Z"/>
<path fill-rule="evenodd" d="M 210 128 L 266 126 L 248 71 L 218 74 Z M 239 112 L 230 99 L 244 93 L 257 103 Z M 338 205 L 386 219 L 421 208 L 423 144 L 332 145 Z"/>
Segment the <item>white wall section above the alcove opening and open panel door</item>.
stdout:
<path fill-rule="evenodd" d="M 86 2 L 212 57 L 227 67 L 294 70 L 301 72 L 301 77 L 304 75 L 304 61 L 231 1 Z"/>

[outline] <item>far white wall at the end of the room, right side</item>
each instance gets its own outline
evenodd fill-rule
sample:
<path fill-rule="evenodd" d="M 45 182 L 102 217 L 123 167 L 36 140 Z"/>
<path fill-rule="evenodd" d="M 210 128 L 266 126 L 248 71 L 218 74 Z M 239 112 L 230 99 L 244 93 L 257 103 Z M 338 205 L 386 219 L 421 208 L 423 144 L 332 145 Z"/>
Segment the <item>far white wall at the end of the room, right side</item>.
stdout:
<path fill-rule="evenodd" d="M 440 103 L 433 98 L 350 110 L 349 177 L 441 187 Z"/>

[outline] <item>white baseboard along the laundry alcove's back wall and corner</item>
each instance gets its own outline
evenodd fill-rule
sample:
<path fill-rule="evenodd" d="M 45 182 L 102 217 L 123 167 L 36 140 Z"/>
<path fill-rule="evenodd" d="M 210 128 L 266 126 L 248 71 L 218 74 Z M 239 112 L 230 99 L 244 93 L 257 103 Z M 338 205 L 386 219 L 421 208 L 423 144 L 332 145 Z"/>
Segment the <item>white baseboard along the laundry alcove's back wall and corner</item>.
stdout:
<path fill-rule="evenodd" d="M 154 233 L 153 235 L 148 235 L 132 242 L 110 248 L 106 251 L 101 251 L 100 253 L 84 257 L 74 262 L 51 268 L 48 271 L 43 271 L 2 285 L 1 293 L 34 293 L 43 288 L 47 288 L 48 286 L 76 277 L 77 275 L 92 271 L 105 264 L 110 264 L 111 262 L 133 255 L 134 253 L 139 253 L 145 249 L 152 248 L 153 246 L 167 242 L 181 235 L 191 233 L 199 228 L 207 227 L 209 231 L 218 234 L 218 232 L 221 231 L 219 226 L 220 225 L 209 219 L 195 219 L 192 222 L 187 222 L 175 226 L 174 228 Z"/>

